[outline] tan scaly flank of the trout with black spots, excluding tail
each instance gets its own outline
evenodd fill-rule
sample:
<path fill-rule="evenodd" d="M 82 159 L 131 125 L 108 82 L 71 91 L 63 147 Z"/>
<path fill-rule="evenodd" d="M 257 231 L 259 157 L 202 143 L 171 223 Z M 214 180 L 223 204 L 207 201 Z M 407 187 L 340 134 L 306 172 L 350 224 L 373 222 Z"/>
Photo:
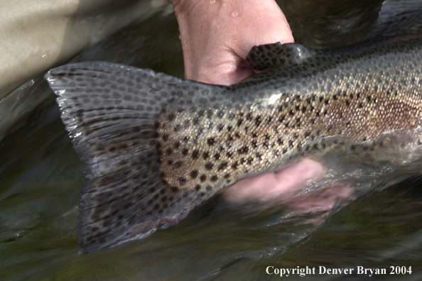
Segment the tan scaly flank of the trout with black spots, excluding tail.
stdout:
<path fill-rule="evenodd" d="M 391 160 L 379 152 L 391 145 L 391 137 L 402 136 L 402 146 L 421 143 L 419 136 L 404 137 L 421 126 L 421 60 L 419 50 L 367 56 L 279 83 L 278 90 L 288 83 L 305 86 L 281 90 L 278 99 L 265 97 L 242 109 L 163 114 L 156 125 L 164 178 L 173 187 L 210 192 L 334 147 Z M 226 94 L 242 97 L 247 91 L 239 87 Z"/>

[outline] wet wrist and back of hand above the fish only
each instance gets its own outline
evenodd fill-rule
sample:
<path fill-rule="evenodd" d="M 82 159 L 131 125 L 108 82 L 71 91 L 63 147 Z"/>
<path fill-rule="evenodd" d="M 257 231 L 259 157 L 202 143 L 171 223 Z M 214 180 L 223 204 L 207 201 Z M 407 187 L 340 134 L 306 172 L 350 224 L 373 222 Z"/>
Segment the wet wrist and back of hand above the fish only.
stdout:
<path fill-rule="evenodd" d="M 245 57 L 254 45 L 292 43 L 274 0 L 173 0 L 185 79 L 230 85 L 254 75 Z"/>

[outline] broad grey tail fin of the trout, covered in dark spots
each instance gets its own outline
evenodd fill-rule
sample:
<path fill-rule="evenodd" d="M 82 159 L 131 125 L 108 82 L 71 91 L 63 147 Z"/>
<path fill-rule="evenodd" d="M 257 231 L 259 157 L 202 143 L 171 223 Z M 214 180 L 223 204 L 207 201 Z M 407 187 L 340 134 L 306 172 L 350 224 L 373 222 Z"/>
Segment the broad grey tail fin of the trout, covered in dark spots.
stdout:
<path fill-rule="evenodd" d="M 77 226 L 83 252 L 176 224 L 212 195 L 169 185 L 156 141 L 158 116 L 185 109 L 211 85 L 107 62 L 64 65 L 45 79 L 86 164 Z"/>

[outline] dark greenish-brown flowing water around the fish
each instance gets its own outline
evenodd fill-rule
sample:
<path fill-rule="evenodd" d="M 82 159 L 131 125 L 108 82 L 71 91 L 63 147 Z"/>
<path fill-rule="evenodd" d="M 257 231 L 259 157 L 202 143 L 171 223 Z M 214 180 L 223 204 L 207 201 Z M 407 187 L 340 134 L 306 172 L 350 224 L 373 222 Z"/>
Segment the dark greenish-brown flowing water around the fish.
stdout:
<path fill-rule="evenodd" d="M 296 41 L 315 48 L 361 39 L 381 4 L 367 2 L 278 1 Z M 173 13 L 156 13 L 72 59 L 85 60 L 121 62 L 182 77 Z M 367 182 L 367 192 L 337 208 L 318 227 L 310 223 L 321 220 L 318 212 L 294 216 L 286 204 L 234 208 L 216 197 L 176 226 L 82 255 L 76 223 L 83 165 L 58 107 L 32 116 L 2 140 L 0 155 L 1 280 L 279 280 L 266 274 L 270 265 L 316 267 L 317 272 L 318 266 L 387 269 L 387 275 L 373 277 L 291 275 L 288 280 L 422 279 L 420 164 Z M 389 267 L 396 265 L 411 266 L 413 272 L 390 275 Z"/>

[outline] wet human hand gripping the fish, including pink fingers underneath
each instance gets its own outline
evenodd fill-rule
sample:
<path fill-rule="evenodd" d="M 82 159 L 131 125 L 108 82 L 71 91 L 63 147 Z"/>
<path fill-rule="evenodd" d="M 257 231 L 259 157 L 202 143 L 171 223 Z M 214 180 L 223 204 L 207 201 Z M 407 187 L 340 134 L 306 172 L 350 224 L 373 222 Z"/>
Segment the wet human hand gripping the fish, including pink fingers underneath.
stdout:
<path fill-rule="evenodd" d="M 170 0 L 169 0 L 170 1 Z M 173 0 L 185 63 L 185 79 L 234 84 L 254 75 L 245 58 L 254 45 L 293 43 L 286 17 L 274 0 Z M 280 172 L 236 182 L 224 189 L 230 202 L 271 199 L 301 189 L 323 173 L 302 160 Z"/>

